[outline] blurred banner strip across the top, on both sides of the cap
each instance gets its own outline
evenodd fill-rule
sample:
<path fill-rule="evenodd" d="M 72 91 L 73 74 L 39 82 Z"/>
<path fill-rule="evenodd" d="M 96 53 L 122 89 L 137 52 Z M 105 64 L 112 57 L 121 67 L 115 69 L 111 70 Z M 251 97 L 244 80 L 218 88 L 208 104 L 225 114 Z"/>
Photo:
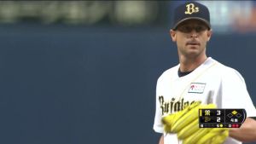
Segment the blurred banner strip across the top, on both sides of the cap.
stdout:
<path fill-rule="evenodd" d="M 185 1 L 0 1 L 0 24 L 172 27 L 173 9 Z M 217 33 L 256 32 L 256 2 L 198 1 Z"/>

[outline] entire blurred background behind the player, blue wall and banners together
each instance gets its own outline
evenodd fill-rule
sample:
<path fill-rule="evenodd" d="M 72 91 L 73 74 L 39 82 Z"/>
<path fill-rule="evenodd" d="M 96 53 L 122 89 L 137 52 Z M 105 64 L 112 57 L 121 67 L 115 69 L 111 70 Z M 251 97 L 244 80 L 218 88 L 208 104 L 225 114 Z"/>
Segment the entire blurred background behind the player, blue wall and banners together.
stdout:
<path fill-rule="evenodd" d="M 179 3 L 0 1 L 0 143 L 157 143 L 155 84 L 177 65 Z M 207 55 L 241 72 L 256 105 L 256 3 L 201 3 Z"/>

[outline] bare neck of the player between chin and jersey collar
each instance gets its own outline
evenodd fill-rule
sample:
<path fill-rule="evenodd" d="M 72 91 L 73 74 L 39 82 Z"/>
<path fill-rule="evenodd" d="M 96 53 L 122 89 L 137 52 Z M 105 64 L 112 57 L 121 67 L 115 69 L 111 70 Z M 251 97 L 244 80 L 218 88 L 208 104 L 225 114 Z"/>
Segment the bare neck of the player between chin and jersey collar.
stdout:
<path fill-rule="evenodd" d="M 207 60 L 207 55 L 203 55 L 201 57 L 192 58 L 192 59 L 180 56 L 179 57 L 180 71 L 181 72 L 192 72 L 195 70 L 195 68 L 197 68 L 202 63 L 204 63 L 205 60 Z"/>

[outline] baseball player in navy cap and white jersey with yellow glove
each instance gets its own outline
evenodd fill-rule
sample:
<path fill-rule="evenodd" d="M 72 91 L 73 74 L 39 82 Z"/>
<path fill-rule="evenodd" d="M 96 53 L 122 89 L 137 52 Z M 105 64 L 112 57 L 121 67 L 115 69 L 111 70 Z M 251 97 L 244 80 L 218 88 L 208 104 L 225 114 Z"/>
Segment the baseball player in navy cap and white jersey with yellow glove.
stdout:
<path fill-rule="evenodd" d="M 173 21 L 170 35 L 177 43 L 179 64 L 163 72 L 157 81 L 154 130 L 163 134 L 160 144 L 256 141 L 256 109 L 244 79 L 235 69 L 206 55 L 212 36 L 207 7 L 196 2 L 183 3 L 175 9 Z M 243 108 L 247 118 L 240 128 L 201 132 L 198 131 L 207 129 L 199 129 L 198 122 L 191 120 L 198 116 L 198 111 L 178 122 L 185 113 L 202 106 Z M 192 130 L 193 124 L 198 130 Z"/>

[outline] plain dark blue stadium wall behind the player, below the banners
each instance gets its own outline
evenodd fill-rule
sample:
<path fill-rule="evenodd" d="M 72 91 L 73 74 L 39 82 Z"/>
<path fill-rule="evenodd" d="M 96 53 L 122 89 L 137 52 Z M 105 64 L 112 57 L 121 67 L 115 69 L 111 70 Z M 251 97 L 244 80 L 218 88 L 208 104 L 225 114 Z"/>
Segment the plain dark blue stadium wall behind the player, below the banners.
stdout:
<path fill-rule="evenodd" d="M 177 65 L 168 31 L 0 26 L 0 143 L 156 144 L 156 80 Z M 241 72 L 254 104 L 255 37 L 213 34 L 207 46 Z"/>

